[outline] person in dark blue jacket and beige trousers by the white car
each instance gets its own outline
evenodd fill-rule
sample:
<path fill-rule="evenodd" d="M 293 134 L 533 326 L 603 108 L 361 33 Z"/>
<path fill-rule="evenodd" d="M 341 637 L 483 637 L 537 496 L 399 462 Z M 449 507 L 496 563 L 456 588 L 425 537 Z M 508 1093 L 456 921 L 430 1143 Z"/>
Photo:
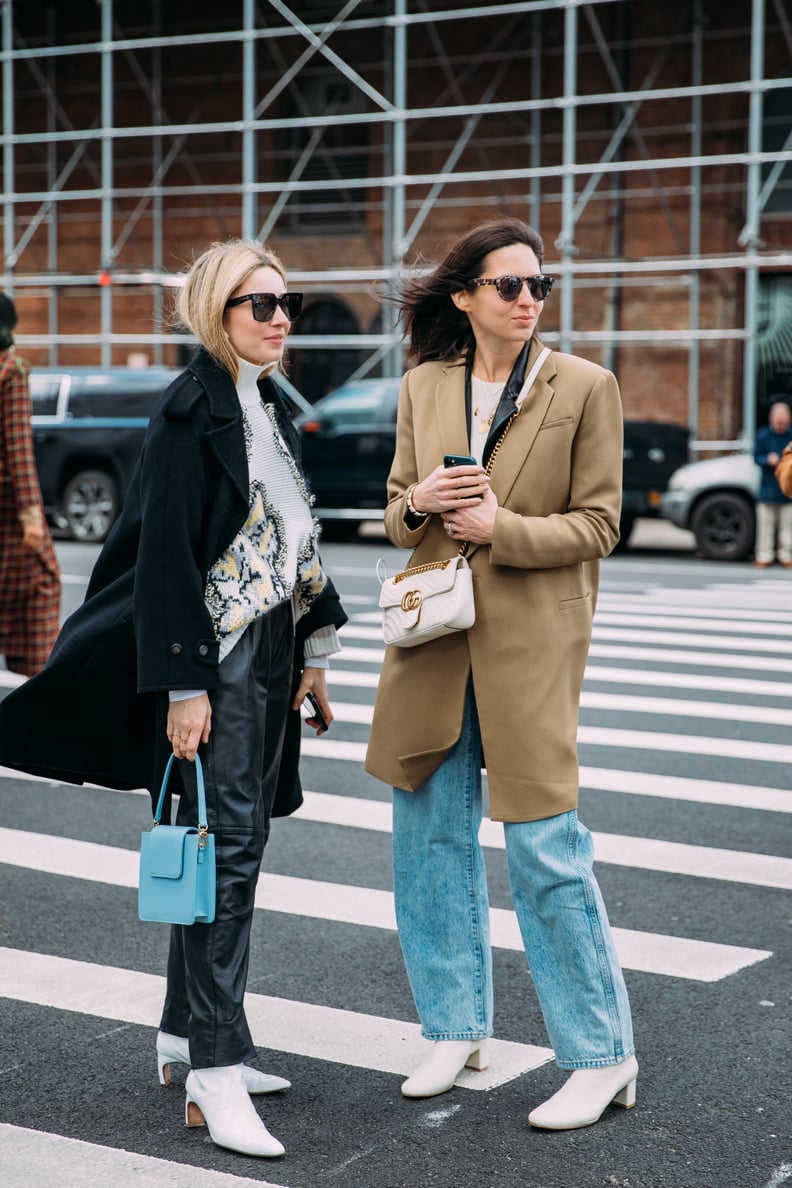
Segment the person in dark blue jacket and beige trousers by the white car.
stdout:
<path fill-rule="evenodd" d="M 775 560 L 792 565 L 792 499 L 784 494 L 775 476 L 775 467 L 792 441 L 792 416 L 784 400 L 771 405 L 767 424 L 756 434 L 754 459 L 761 467 L 759 499 L 756 501 L 756 560 L 765 569 Z"/>

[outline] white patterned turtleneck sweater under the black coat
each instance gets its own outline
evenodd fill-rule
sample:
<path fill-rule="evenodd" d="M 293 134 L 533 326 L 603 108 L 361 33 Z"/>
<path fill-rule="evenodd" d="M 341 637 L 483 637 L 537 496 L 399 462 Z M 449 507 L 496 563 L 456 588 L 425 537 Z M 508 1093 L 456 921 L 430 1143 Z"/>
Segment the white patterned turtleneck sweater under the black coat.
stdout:
<path fill-rule="evenodd" d="M 291 599 L 299 618 L 327 583 L 311 495 L 278 429 L 273 405 L 262 404 L 259 393 L 259 377 L 271 368 L 245 359 L 239 366 L 236 394 L 247 449 L 249 511 L 234 541 L 211 567 L 204 593 L 221 661 L 259 615 Z M 305 640 L 306 662 L 327 668 L 328 656 L 340 646 L 335 627 L 322 627 Z M 172 691 L 171 701 L 203 691 Z"/>

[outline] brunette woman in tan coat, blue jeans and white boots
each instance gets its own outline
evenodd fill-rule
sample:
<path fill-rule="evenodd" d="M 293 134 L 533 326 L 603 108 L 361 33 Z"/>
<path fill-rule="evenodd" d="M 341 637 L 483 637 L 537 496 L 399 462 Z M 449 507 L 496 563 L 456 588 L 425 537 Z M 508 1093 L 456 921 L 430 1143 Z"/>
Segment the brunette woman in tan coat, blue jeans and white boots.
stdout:
<path fill-rule="evenodd" d="M 387 649 L 367 770 L 393 785 L 399 936 L 433 1041 L 401 1092 L 444 1093 L 462 1068 L 487 1063 L 483 763 L 550 1042 L 571 1073 L 528 1120 L 565 1130 L 612 1102 L 632 1106 L 638 1064 L 591 836 L 577 817 L 598 561 L 619 538 L 621 405 L 602 367 L 543 356 L 537 327 L 551 287 L 537 232 L 502 219 L 401 290 L 418 366 L 401 385 L 385 525 L 414 550 L 411 567 L 467 545 L 476 621 Z M 449 454 L 473 461 L 446 468 Z"/>

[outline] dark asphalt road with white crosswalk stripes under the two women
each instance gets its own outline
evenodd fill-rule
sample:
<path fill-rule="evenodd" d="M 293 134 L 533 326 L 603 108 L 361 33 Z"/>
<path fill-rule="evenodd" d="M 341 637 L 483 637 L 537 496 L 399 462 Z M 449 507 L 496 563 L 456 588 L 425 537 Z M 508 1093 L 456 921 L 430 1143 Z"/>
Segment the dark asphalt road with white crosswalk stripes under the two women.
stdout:
<path fill-rule="evenodd" d="M 59 544 L 64 606 L 95 549 Z M 184 1068 L 157 1082 L 166 929 L 137 918 L 147 800 L 0 772 L 0 1183 L 240 1188 L 781 1188 L 792 1184 L 792 573 L 697 560 L 639 525 L 603 564 L 581 719 L 582 820 L 626 967 L 638 1106 L 545 1133 L 563 1081 L 514 942 L 503 851 L 495 1059 L 405 1101 L 423 1041 L 391 909 L 388 789 L 362 771 L 381 644 L 369 535 L 325 546 L 351 623 L 337 721 L 309 738 L 310 795 L 274 823 L 248 981 L 258 1099 L 279 1161 L 183 1126 Z M 12 681 L 0 672 L 0 695 Z"/>

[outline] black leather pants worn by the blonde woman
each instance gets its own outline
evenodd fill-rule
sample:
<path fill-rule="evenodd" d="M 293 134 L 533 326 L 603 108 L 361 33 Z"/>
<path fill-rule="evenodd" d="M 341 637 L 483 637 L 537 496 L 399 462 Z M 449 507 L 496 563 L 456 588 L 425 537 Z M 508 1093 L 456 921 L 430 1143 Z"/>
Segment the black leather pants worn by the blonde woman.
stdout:
<path fill-rule="evenodd" d="M 217 857 L 213 924 L 171 929 L 160 1029 L 188 1036 L 194 1068 L 239 1064 L 255 1056 L 245 1018 L 251 923 L 259 867 L 270 833 L 293 651 L 291 606 L 256 619 L 220 665 L 209 693 L 211 734 L 201 746 L 209 830 Z M 180 762 L 188 789 L 177 814 L 195 823 L 195 766 Z"/>

